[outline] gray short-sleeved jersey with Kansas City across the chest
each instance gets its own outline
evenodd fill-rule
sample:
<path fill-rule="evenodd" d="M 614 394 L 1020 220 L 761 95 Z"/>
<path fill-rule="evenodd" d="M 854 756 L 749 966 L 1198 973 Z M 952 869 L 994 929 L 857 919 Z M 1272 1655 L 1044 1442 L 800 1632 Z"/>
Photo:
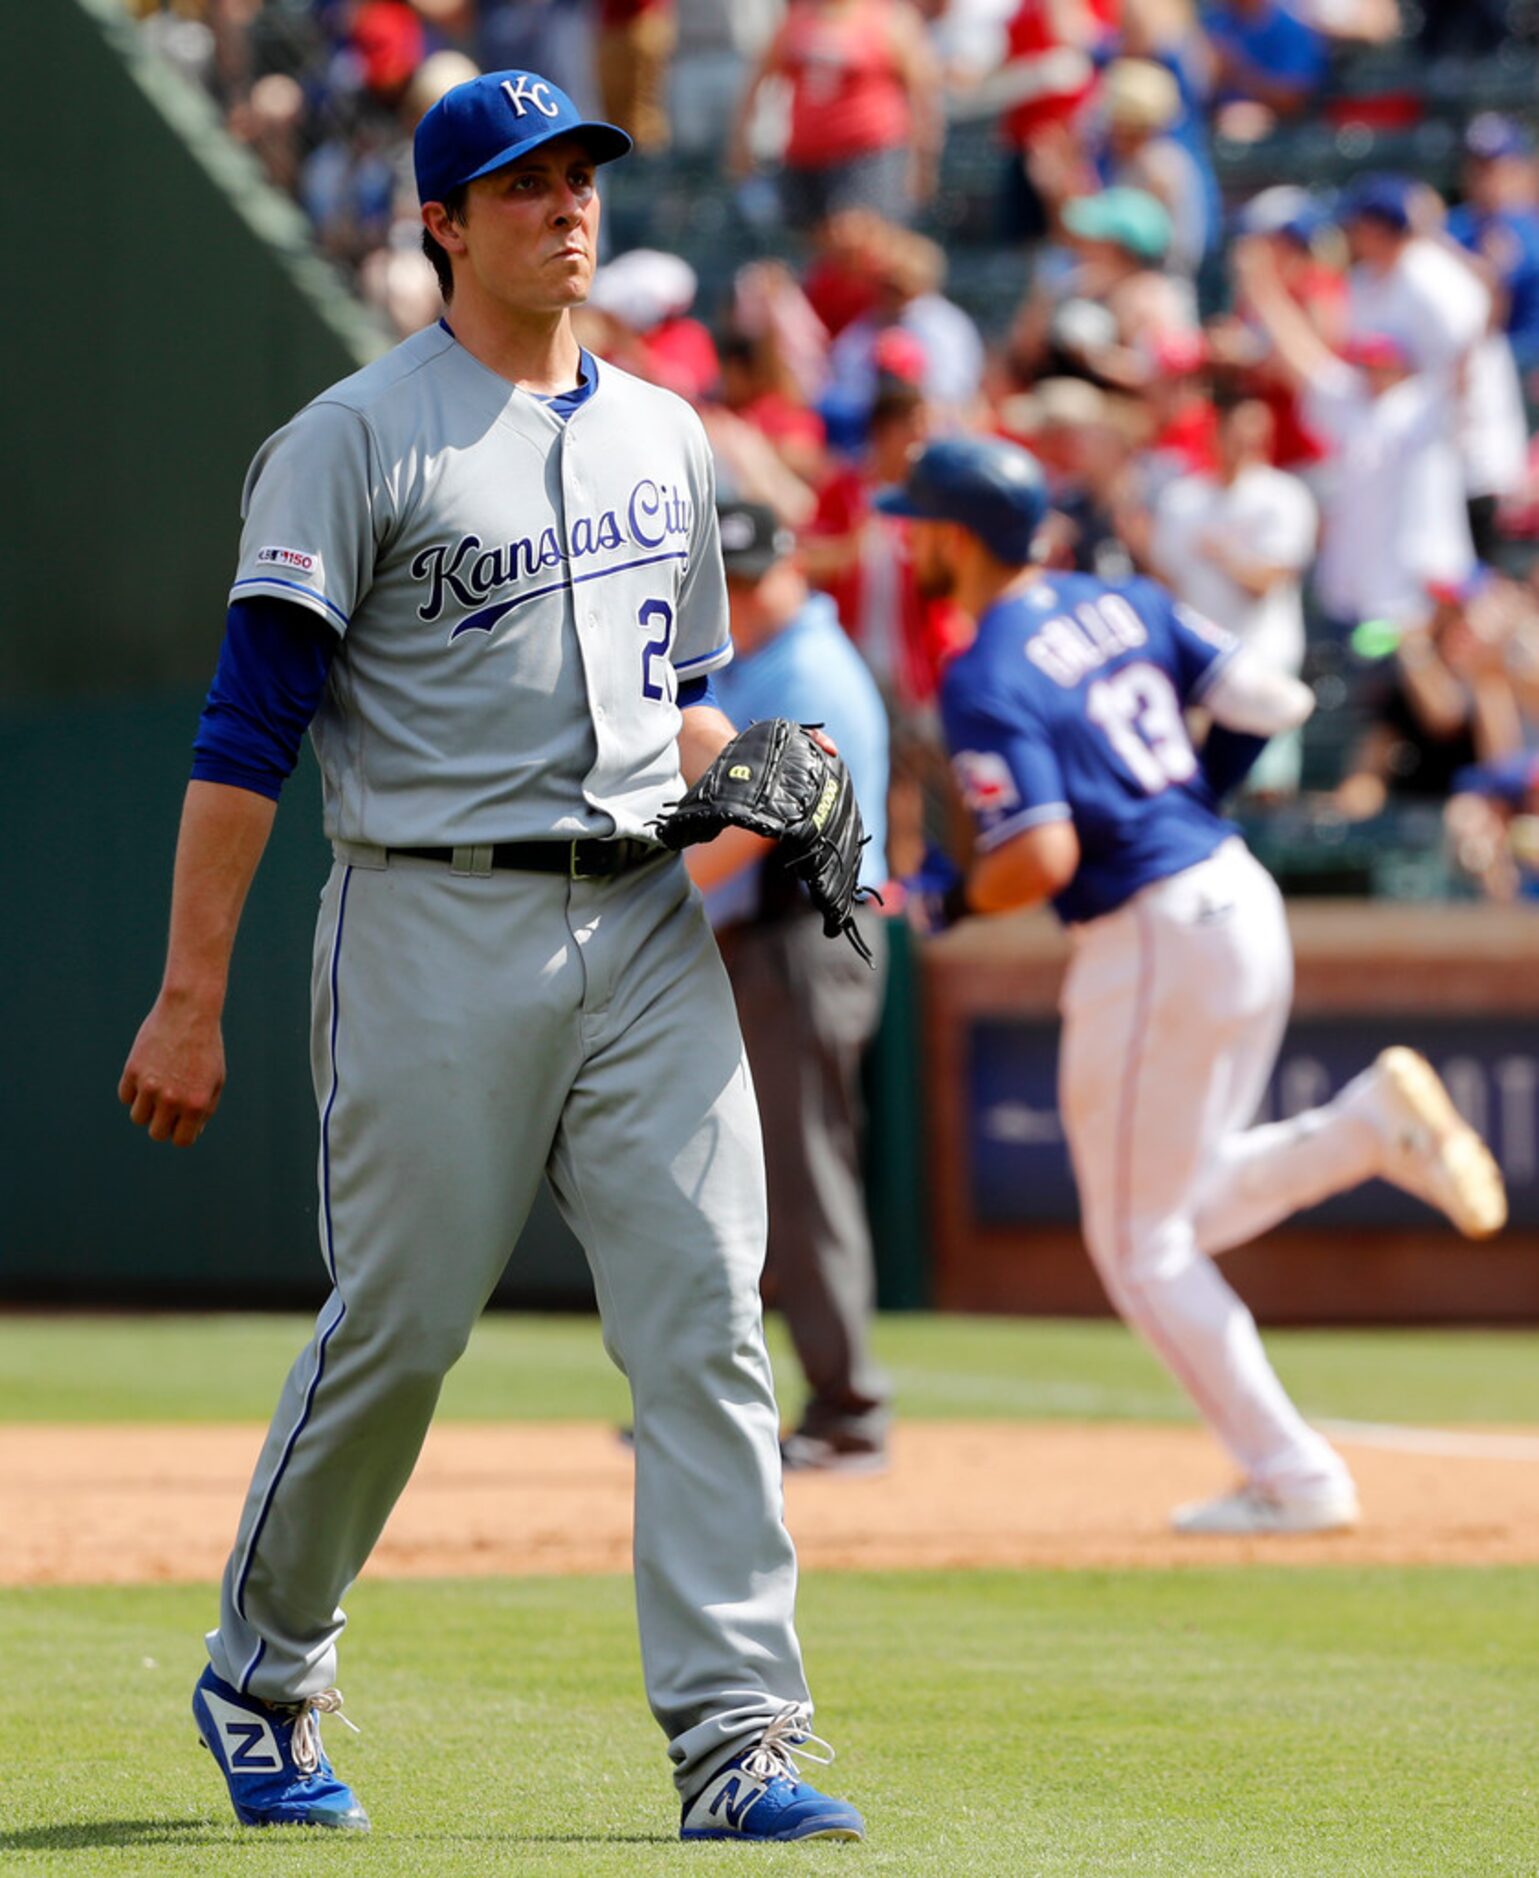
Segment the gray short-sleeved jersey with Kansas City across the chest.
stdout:
<path fill-rule="evenodd" d="M 312 731 L 333 839 L 635 836 L 676 794 L 678 676 L 731 657 L 710 449 L 682 398 L 598 372 L 564 423 L 434 325 L 257 453 L 231 597 L 342 639 Z"/>

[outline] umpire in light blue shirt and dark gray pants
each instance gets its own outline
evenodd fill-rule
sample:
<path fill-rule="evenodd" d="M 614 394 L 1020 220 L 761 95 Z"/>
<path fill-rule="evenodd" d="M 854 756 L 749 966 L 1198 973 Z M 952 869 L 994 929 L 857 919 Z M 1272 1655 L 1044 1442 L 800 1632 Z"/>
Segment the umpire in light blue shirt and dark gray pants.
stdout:
<path fill-rule="evenodd" d="M 789 530 L 759 503 L 723 503 L 735 661 L 714 674 L 737 725 L 823 723 L 849 766 L 870 832 L 861 885 L 887 877 L 887 714 L 876 680 L 795 562 Z M 767 864 L 769 841 L 727 828 L 690 851 L 707 890 L 748 1044 L 769 1174 L 765 1298 L 784 1313 L 808 1384 L 782 1444 L 787 1469 L 878 1472 L 887 1380 L 870 1358 L 872 1238 L 861 1179 L 861 1057 L 881 1018 L 887 933 L 857 907 L 868 969 L 829 945 L 801 886 Z"/>

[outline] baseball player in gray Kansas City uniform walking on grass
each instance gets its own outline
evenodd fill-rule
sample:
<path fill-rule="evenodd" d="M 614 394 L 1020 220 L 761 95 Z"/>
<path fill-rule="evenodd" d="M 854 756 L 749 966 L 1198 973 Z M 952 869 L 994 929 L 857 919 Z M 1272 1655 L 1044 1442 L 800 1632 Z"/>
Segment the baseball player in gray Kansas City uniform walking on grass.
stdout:
<path fill-rule="evenodd" d="M 120 1097 L 190 1146 L 235 928 L 304 727 L 334 868 L 314 952 L 331 1275 L 224 1576 L 199 1732 L 246 1824 L 363 1827 L 318 1716 L 395 1506 L 541 1174 L 586 1247 L 637 1433 L 635 1581 L 684 1839 L 859 1839 L 793 1628 L 759 1315 L 765 1179 L 733 997 L 652 823 L 731 740 L 710 456 L 596 364 L 596 165 L 530 71 L 415 141 L 447 316 L 256 456 L 182 811 L 165 978 Z M 682 783 L 680 783 L 682 776 Z"/>

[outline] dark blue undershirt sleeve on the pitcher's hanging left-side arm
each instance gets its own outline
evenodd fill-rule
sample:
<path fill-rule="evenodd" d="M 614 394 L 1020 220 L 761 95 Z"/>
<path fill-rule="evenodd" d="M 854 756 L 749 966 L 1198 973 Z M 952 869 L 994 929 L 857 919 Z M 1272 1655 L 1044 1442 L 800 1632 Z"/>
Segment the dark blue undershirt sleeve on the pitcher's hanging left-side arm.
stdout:
<path fill-rule="evenodd" d="M 199 783 L 278 800 L 325 693 L 336 633 L 308 607 L 256 593 L 231 601 L 224 646 L 192 746 Z"/>

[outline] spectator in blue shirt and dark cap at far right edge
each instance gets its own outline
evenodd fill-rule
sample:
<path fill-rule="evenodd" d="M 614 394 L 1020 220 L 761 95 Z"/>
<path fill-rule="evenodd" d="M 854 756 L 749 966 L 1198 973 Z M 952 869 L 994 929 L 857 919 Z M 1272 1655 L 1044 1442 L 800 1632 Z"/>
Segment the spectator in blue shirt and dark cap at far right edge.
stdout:
<path fill-rule="evenodd" d="M 1539 171 L 1533 139 L 1483 111 L 1464 133 L 1464 201 L 1449 235 L 1485 263 L 1520 372 L 1539 366 Z"/>

